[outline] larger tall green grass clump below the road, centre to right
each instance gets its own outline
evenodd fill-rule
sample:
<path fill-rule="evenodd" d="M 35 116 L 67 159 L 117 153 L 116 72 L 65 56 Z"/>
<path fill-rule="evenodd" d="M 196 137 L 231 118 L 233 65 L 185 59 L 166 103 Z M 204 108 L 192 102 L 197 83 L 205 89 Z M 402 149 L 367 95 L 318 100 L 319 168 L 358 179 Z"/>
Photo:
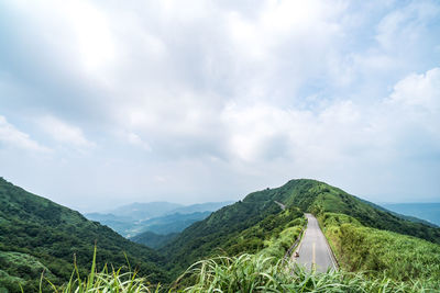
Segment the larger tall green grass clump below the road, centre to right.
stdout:
<path fill-rule="evenodd" d="M 366 279 L 362 273 L 318 273 L 264 256 L 218 257 L 193 264 L 182 277 L 191 285 L 180 292 L 436 292 L 421 282 L 399 282 L 388 278 Z"/>

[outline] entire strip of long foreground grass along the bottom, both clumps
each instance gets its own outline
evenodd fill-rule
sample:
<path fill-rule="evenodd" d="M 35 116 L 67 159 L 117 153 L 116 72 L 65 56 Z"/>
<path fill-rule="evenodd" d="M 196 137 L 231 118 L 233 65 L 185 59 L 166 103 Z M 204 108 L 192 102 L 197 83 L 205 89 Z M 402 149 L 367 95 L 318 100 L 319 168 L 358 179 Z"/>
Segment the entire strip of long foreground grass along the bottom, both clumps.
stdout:
<path fill-rule="evenodd" d="M 44 282 L 44 281 L 43 281 Z M 369 279 L 363 273 L 330 271 L 317 273 L 293 263 L 283 266 L 275 258 L 263 255 L 217 257 L 193 264 L 170 286 L 150 284 L 135 273 L 119 271 L 95 272 L 86 279 L 70 279 L 53 292 L 437 292 L 428 282 L 399 282 L 388 278 Z"/>

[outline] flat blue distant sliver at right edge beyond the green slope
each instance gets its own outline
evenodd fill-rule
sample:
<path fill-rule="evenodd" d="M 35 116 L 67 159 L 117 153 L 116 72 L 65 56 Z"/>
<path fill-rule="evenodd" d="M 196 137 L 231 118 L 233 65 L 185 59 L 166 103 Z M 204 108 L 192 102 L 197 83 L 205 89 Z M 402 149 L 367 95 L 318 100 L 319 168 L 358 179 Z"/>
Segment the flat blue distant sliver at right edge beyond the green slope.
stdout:
<path fill-rule="evenodd" d="M 384 203 L 381 205 L 395 213 L 422 218 L 440 226 L 440 203 Z"/>

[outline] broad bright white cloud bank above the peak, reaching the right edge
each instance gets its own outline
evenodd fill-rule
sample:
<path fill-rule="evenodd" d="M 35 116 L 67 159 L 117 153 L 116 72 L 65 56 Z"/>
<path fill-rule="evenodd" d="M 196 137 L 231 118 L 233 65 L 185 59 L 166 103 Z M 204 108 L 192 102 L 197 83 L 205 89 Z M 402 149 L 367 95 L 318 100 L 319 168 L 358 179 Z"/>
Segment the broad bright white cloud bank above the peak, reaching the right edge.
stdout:
<path fill-rule="evenodd" d="M 311 112 L 232 103 L 221 120 L 229 153 L 235 160 L 264 166 L 278 157 L 293 161 L 297 168 L 316 170 L 331 169 L 334 164 L 396 164 L 408 151 L 421 151 L 402 147 L 414 144 L 415 135 L 440 142 L 439 87 L 440 70 L 433 68 L 404 78 L 389 97 L 370 105 L 336 101 Z M 438 147 L 438 143 L 428 140 L 425 148 Z"/>

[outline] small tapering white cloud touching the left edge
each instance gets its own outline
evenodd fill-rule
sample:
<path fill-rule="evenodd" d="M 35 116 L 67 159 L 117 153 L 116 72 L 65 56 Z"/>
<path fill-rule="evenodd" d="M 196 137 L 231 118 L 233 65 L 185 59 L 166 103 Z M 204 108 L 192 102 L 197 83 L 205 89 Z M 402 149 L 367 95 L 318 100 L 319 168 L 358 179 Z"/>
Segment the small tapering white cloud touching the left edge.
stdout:
<path fill-rule="evenodd" d="M 29 134 L 23 133 L 15 128 L 12 124 L 8 123 L 7 119 L 0 115 L 0 142 L 12 147 L 18 147 L 31 151 L 48 153 L 50 148 L 40 145 L 33 140 Z"/>

